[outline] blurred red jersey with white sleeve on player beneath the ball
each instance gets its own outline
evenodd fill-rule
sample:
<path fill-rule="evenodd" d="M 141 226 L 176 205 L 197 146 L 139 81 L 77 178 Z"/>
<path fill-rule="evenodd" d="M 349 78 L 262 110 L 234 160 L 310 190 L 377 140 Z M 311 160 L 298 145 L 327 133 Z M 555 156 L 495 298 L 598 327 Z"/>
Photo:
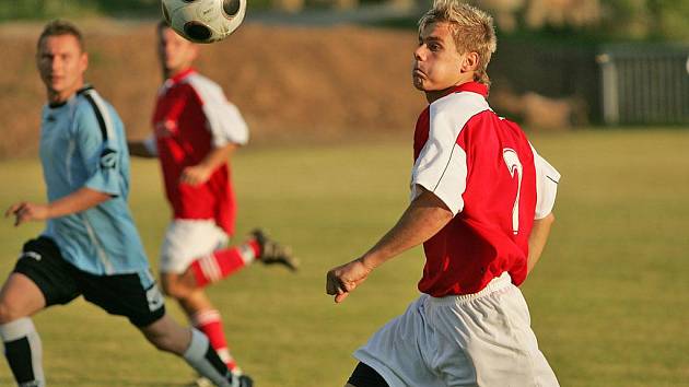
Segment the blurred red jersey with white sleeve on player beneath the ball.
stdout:
<path fill-rule="evenodd" d="M 232 235 L 236 204 L 229 164 L 217 168 L 208 181 L 198 186 L 179 183 L 179 176 L 213 148 L 246 143 L 248 130 L 238 109 L 227 102 L 218 84 L 188 69 L 166 80 L 160 89 L 153 128 L 155 141 L 147 144 L 161 161 L 174 218 L 214 220 Z"/>

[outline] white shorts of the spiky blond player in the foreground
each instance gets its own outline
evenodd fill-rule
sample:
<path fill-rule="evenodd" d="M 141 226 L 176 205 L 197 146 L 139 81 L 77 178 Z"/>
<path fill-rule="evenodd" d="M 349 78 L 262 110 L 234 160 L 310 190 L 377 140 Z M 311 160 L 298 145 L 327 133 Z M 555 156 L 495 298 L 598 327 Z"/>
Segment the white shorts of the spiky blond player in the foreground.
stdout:
<path fill-rule="evenodd" d="M 506 272 L 476 294 L 422 294 L 354 357 L 390 387 L 559 386 Z"/>

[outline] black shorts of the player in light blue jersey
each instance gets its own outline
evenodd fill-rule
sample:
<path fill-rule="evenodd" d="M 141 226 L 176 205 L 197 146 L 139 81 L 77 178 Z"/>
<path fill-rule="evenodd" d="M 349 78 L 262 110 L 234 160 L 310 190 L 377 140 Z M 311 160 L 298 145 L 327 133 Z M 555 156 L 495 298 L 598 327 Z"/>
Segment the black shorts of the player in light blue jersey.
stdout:
<path fill-rule="evenodd" d="M 112 315 L 125 316 L 145 327 L 165 315 L 165 304 L 154 281 L 144 288 L 139 273 L 95 275 L 62 258 L 48 237 L 24 244 L 14 272 L 28 277 L 46 298 L 46 306 L 67 304 L 80 295 Z M 142 273 L 144 274 L 144 273 Z"/>

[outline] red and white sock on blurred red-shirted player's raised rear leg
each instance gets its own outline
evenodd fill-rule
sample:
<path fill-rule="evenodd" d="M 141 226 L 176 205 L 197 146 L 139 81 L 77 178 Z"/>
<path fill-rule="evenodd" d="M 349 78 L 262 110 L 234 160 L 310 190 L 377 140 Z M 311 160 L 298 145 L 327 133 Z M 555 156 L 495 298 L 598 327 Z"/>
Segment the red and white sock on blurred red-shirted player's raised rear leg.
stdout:
<path fill-rule="evenodd" d="M 191 262 L 191 271 L 196 278 L 196 285 L 203 288 L 218 282 L 233 272 L 250 265 L 260 255 L 260 246 L 255 239 L 230 248 L 215 250 Z"/>

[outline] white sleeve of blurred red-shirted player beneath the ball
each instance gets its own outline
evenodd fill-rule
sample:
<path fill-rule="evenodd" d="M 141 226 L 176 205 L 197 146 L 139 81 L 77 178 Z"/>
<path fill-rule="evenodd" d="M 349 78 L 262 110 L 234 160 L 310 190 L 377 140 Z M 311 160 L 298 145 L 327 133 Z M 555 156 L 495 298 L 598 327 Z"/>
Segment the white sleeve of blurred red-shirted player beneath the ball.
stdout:
<path fill-rule="evenodd" d="M 201 98 L 214 146 L 248 142 L 248 128 L 240 109 L 227 101 L 215 82 L 198 73 L 190 74 L 183 82 L 188 82 Z"/>

